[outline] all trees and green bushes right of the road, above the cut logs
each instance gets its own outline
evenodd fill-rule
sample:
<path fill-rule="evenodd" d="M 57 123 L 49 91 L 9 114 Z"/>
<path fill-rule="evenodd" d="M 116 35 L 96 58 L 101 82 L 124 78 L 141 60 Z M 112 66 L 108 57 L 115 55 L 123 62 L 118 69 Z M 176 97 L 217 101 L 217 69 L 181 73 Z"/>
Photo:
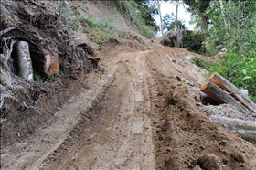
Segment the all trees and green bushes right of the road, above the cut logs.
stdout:
<path fill-rule="evenodd" d="M 249 90 L 256 102 L 256 2 L 183 0 L 192 14 L 196 30 L 185 31 L 182 47 L 206 56 L 225 50 L 222 60 L 203 64 L 217 71 L 240 89 Z M 163 18 L 164 20 L 166 18 Z M 174 17 L 171 18 L 174 23 Z M 165 22 L 166 23 L 166 22 Z"/>

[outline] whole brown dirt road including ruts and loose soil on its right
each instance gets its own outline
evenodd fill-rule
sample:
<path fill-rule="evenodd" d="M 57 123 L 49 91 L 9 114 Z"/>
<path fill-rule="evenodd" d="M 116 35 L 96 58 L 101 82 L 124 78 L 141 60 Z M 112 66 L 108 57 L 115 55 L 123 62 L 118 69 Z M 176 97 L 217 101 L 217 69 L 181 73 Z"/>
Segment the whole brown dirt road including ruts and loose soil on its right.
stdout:
<path fill-rule="evenodd" d="M 2 147 L 1 169 L 256 168 L 256 148 L 200 112 L 205 70 L 186 49 L 109 43 L 98 55 L 104 74 L 91 73 L 35 133 Z"/>

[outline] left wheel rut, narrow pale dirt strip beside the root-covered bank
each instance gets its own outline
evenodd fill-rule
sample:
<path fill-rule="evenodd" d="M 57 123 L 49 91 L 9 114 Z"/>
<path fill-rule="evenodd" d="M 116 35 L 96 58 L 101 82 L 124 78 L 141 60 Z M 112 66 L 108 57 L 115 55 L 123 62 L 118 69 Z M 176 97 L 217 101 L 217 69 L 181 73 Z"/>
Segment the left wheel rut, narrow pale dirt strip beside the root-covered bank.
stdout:
<path fill-rule="evenodd" d="M 91 89 L 82 90 L 79 96 L 74 96 L 59 112 L 55 113 L 57 122 L 47 128 L 38 130 L 32 141 L 20 144 L 21 153 L 13 153 L 10 148 L 1 155 L 4 169 L 37 169 L 48 156 L 53 157 L 62 143 L 69 141 L 67 136 L 73 131 L 83 112 L 88 112 L 93 102 L 99 101 L 101 94 L 110 86 L 114 76 L 108 74 L 102 80 L 90 84 Z M 95 84 L 93 84 L 95 83 Z M 93 86 L 92 86 L 93 84 Z M 90 120 L 90 118 L 88 118 Z"/>

